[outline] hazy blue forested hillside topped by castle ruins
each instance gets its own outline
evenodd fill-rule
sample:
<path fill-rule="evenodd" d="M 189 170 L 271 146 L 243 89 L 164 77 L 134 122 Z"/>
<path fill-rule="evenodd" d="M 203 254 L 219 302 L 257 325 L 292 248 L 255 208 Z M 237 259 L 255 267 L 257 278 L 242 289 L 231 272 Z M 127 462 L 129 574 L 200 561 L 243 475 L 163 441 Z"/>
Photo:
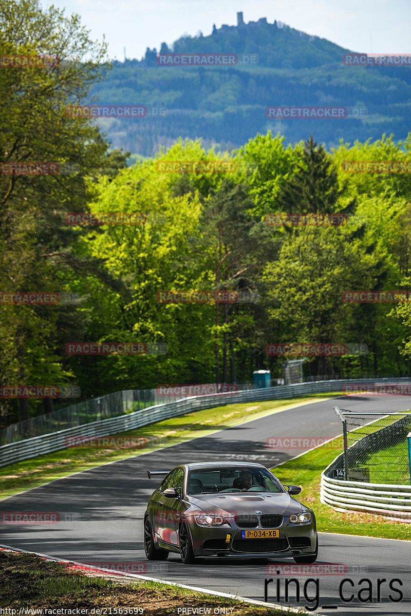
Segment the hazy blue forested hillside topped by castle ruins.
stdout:
<path fill-rule="evenodd" d="M 349 52 L 330 41 L 265 18 L 237 26 L 223 25 L 210 36 L 184 36 L 160 53 L 257 54 L 258 65 L 232 67 L 160 67 L 157 50 L 142 60 L 114 62 L 92 95 L 111 104 L 165 105 L 163 118 L 99 120 L 112 142 L 143 156 L 178 137 L 201 137 L 206 147 L 229 150 L 257 132 L 280 132 L 287 142 L 312 132 L 327 148 L 378 139 L 384 132 L 405 139 L 410 130 L 411 67 L 349 67 Z M 368 116 L 348 119 L 270 119 L 273 105 L 365 106 Z"/>

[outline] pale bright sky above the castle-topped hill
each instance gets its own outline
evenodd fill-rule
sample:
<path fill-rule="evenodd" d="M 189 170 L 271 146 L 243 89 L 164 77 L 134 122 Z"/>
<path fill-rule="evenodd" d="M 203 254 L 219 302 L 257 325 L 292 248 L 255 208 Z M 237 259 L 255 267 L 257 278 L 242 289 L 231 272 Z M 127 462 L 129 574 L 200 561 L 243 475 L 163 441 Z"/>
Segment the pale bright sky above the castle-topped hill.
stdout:
<path fill-rule="evenodd" d="M 237 25 L 266 17 L 350 51 L 411 52 L 411 0 L 40 0 L 66 15 L 78 13 L 91 38 L 108 43 L 108 58 L 140 60 L 147 47 L 160 50 L 183 34 L 211 34 L 213 23 Z"/>

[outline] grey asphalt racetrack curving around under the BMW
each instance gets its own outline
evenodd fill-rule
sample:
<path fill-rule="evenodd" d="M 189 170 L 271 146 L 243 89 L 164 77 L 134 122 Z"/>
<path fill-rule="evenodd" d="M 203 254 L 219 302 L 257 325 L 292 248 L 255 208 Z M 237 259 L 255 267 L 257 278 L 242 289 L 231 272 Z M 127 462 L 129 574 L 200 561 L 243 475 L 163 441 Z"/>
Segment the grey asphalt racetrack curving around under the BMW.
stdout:
<path fill-rule="evenodd" d="M 407 409 L 411 407 L 411 401 L 406 396 L 343 396 L 326 402 L 315 402 L 216 432 L 208 437 L 56 480 L 2 500 L 0 509 L 2 512 L 68 512 L 74 514 L 76 520 L 43 525 L 2 524 L 0 543 L 77 562 L 96 563 L 102 567 L 110 564 L 110 568 L 118 563 L 119 568 L 124 566 L 126 570 L 149 577 L 260 601 L 264 600 L 264 580 L 274 578 L 274 582 L 267 586 L 268 602 L 309 608 L 319 614 L 411 614 L 409 541 L 320 533 L 316 565 L 346 565 L 346 573 L 339 575 L 288 574 L 285 565 L 295 566 L 292 559 L 277 561 L 283 568 L 279 575 L 275 565 L 262 560 L 198 559 L 198 564 L 183 565 L 179 556 L 173 553 L 166 562 L 149 562 L 145 559 L 142 518 L 147 500 L 157 487 L 155 480 L 147 478 L 147 468 L 171 469 L 176 464 L 207 460 L 250 460 L 271 468 L 303 450 L 269 449 L 266 447 L 267 437 L 330 439 L 341 434 L 340 421 L 333 411 L 334 405 L 353 411 L 386 412 Z M 308 496 L 304 491 L 301 497 L 303 495 Z M 287 578 L 298 580 L 299 600 L 296 583 L 290 583 L 288 601 L 284 600 Z M 343 578 L 351 580 L 343 588 L 344 598 L 352 597 L 346 602 L 341 600 L 339 591 Z M 368 593 L 364 591 L 360 594 L 363 601 L 358 599 L 359 591 L 364 589 L 364 584 L 368 584 L 359 585 L 362 578 L 370 580 L 373 602 L 367 601 Z M 393 582 L 394 578 L 401 580 L 402 586 L 399 582 Z M 312 581 L 307 582 L 310 579 Z M 381 582 L 383 579 L 385 581 Z M 318 580 L 318 590 L 315 580 Z M 278 598 L 277 583 L 280 593 Z M 394 590 L 390 590 L 390 583 Z M 378 586 L 380 601 L 377 601 Z M 401 590 L 403 594 L 400 602 L 396 602 L 399 593 L 395 589 Z M 394 601 L 390 601 L 389 594 Z"/>

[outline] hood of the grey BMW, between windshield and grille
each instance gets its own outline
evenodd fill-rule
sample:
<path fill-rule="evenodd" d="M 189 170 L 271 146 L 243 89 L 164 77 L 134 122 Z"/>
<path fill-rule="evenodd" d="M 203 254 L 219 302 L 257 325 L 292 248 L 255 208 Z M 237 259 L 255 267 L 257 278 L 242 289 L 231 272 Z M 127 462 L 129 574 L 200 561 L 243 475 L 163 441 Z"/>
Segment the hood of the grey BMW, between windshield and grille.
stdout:
<path fill-rule="evenodd" d="M 232 516 L 253 515 L 261 511 L 262 515 L 277 514 L 291 516 L 301 513 L 306 508 L 291 498 L 287 492 L 272 492 L 267 498 L 265 494 L 233 494 L 218 496 L 213 494 L 195 494 L 187 496 L 187 501 L 193 507 L 198 507 L 211 514 L 231 514 Z"/>

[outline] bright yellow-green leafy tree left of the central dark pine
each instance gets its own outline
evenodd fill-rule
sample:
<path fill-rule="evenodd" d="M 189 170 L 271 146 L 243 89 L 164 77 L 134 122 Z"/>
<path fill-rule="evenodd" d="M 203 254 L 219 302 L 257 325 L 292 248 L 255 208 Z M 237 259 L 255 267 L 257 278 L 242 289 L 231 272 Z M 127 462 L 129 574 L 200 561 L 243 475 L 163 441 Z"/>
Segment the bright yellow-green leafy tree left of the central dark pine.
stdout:
<path fill-rule="evenodd" d="M 108 182 L 100 181 L 91 211 L 144 213 L 144 225 L 111 225 L 89 230 L 79 245 L 82 258 L 104 259 L 124 290 L 111 290 L 95 277 L 79 280 L 79 289 L 91 293 L 84 311 L 89 318 L 84 341 L 165 342 L 166 355 L 73 357 L 72 369 L 84 376 L 87 391 L 155 387 L 161 383 L 210 376 L 206 326 L 212 325 L 210 306 L 166 304 L 161 291 L 198 288 L 187 266 L 187 238 L 197 230 L 198 195 L 174 197 L 169 177 L 157 171 L 155 161 L 124 169 Z M 84 336 L 87 336 L 85 339 Z M 211 363 L 210 363 L 211 362 Z"/>

